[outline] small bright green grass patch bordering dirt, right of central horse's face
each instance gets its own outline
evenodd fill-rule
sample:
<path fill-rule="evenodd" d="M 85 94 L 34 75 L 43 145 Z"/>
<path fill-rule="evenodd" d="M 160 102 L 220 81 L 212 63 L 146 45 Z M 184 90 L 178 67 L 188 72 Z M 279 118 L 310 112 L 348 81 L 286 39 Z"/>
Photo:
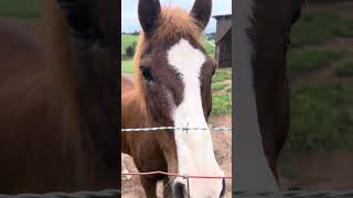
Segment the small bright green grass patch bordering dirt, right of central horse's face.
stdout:
<path fill-rule="evenodd" d="M 212 96 L 212 116 L 232 113 L 232 94 Z"/>

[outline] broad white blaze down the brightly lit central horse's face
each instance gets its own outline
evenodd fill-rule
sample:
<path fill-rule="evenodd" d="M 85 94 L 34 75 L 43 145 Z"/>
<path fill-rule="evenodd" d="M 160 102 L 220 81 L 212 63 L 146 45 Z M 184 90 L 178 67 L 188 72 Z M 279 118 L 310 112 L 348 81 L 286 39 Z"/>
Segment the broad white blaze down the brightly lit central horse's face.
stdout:
<path fill-rule="evenodd" d="M 180 74 L 184 84 L 183 101 L 172 112 L 174 127 L 207 128 L 204 118 L 200 74 L 206 61 L 205 55 L 188 41 L 181 40 L 168 52 L 169 64 Z M 179 174 L 223 176 L 214 156 L 212 136 L 206 131 L 175 130 L 174 138 L 178 153 Z M 185 184 L 184 179 L 175 182 Z M 186 186 L 186 185 L 185 185 Z M 222 179 L 190 179 L 192 197 L 218 197 Z"/>

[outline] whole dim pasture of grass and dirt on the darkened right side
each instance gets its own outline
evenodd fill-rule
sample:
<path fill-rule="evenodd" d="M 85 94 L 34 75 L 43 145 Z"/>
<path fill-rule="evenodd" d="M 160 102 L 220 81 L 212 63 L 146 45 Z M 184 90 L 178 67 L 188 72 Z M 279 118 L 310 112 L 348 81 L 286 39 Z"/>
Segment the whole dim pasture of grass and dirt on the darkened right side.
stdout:
<path fill-rule="evenodd" d="M 293 25 L 287 59 L 290 132 L 279 164 L 285 188 L 352 187 L 352 9 L 347 1 L 310 3 Z"/>

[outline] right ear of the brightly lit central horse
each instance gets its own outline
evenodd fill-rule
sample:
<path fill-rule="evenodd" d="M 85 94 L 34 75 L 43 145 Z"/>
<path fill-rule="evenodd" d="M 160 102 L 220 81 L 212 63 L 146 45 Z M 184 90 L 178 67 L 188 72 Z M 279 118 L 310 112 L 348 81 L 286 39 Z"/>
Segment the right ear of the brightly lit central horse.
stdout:
<path fill-rule="evenodd" d="M 190 12 L 199 23 L 201 29 L 205 29 L 211 18 L 212 0 L 195 0 L 194 6 Z"/>

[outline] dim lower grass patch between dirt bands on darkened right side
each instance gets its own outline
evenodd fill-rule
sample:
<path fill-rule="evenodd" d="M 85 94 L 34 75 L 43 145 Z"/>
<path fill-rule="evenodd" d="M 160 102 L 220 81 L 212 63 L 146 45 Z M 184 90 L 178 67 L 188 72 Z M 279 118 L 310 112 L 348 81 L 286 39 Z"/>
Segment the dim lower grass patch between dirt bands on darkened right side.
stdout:
<path fill-rule="evenodd" d="M 291 92 L 287 151 L 353 147 L 353 87 L 321 82 Z"/>

